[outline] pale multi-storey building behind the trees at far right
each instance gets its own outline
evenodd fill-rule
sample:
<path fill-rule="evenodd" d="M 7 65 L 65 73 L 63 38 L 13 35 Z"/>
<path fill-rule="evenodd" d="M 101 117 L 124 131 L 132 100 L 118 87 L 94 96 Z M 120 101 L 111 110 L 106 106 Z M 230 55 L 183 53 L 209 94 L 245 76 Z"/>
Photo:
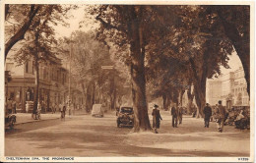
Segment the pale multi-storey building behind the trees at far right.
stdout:
<path fill-rule="evenodd" d="M 246 91 L 244 71 L 240 67 L 234 72 L 221 75 L 218 79 L 208 80 L 206 101 L 215 105 L 219 100 L 227 107 L 232 105 L 249 105 L 249 96 Z"/>

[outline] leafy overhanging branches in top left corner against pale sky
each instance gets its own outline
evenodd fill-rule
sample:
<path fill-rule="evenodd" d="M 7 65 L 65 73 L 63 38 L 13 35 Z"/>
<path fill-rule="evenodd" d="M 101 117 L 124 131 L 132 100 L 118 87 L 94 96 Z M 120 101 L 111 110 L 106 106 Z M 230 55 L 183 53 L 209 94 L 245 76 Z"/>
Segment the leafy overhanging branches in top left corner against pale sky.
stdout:
<path fill-rule="evenodd" d="M 53 26 L 58 24 L 67 26 L 64 18 L 68 18 L 67 12 L 74 8 L 76 6 L 72 5 L 6 4 L 5 58 L 17 42 L 26 38 L 28 31 L 38 26 L 44 26 L 45 37 L 53 37 L 55 34 Z"/>

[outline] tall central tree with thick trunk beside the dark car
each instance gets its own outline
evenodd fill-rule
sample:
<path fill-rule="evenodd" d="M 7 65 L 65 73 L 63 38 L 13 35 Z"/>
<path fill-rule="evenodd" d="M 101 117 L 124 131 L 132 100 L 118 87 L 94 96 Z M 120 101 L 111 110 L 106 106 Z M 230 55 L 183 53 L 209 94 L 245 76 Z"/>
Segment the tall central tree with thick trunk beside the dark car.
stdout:
<path fill-rule="evenodd" d="M 99 34 L 98 38 L 105 42 L 108 38 L 108 41 L 119 47 L 127 45 L 129 48 L 135 132 L 151 130 L 146 98 L 145 56 L 149 43 L 156 41 L 155 36 L 160 39 L 176 21 L 169 14 L 171 10 L 170 6 L 146 5 L 103 5 L 92 10 L 96 20 L 100 22 L 100 33 L 104 33 Z"/>

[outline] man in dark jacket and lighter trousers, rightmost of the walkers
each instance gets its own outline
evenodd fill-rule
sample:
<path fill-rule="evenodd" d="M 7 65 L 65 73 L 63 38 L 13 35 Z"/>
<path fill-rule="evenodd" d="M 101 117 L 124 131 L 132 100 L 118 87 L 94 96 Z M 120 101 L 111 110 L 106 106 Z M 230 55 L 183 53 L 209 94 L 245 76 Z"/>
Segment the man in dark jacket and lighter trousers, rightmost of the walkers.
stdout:
<path fill-rule="evenodd" d="M 217 128 L 220 133 L 223 133 L 224 131 L 224 115 L 225 115 L 225 109 L 224 109 L 224 106 L 222 105 L 222 101 L 220 100 L 217 108 L 217 113 L 216 113 Z"/>

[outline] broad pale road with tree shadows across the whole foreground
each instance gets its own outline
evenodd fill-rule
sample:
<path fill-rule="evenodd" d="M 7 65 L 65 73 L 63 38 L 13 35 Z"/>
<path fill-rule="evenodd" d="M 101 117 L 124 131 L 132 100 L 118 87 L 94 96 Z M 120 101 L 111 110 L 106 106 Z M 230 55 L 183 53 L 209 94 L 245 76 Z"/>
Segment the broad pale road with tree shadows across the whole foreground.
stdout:
<path fill-rule="evenodd" d="M 184 117 L 178 128 L 161 112 L 160 134 L 132 134 L 117 128 L 115 114 L 90 115 L 19 125 L 7 132 L 6 156 L 249 156 L 250 133 L 233 127 L 217 132 L 216 124 Z"/>

